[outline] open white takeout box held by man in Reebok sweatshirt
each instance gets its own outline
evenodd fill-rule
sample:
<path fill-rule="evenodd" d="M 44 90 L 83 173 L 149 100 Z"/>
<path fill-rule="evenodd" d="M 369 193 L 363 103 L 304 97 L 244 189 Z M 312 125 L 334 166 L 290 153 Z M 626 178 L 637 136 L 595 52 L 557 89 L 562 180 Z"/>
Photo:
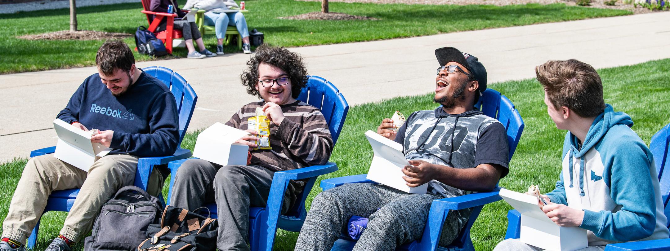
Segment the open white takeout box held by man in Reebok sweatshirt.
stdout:
<path fill-rule="evenodd" d="M 90 133 L 74 127 L 59 118 L 54 120 L 54 129 L 58 135 L 54 157 L 88 171 L 95 161 L 112 151 L 100 143 L 90 142 Z"/>

